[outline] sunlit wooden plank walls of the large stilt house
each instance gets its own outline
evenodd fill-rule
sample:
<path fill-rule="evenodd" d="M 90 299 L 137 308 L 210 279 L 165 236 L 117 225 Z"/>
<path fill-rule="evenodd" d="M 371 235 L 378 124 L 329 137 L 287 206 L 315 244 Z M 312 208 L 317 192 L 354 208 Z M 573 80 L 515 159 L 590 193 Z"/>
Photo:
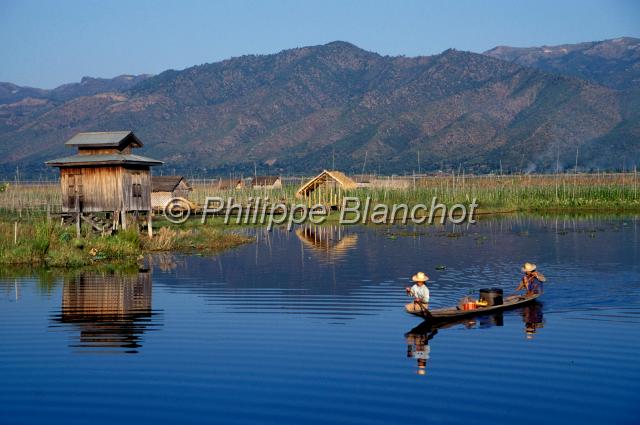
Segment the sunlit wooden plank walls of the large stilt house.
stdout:
<path fill-rule="evenodd" d="M 133 196 L 133 184 L 140 189 Z M 75 211 L 75 194 L 84 212 L 151 210 L 149 167 L 62 167 L 60 168 L 62 210 Z"/>

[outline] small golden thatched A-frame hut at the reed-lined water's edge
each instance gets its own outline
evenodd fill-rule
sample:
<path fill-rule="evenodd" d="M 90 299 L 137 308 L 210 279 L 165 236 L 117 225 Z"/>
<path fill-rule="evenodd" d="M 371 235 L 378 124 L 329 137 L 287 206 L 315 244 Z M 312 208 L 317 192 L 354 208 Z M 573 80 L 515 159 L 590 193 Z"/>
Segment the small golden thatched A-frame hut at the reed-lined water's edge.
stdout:
<path fill-rule="evenodd" d="M 345 190 L 353 190 L 358 184 L 340 171 L 324 170 L 296 192 L 296 197 L 305 200 L 308 206 L 322 204 L 327 208 L 338 208 Z"/>

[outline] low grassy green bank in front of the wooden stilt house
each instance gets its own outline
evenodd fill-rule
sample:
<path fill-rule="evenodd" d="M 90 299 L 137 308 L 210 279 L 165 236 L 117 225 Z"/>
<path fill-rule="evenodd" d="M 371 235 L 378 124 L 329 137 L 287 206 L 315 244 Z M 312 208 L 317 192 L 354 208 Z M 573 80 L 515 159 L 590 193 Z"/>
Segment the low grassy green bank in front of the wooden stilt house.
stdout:
<path fill-rule="evenodd" d="M 16 226 L 17 223 L 17 226 Z M 15 221 L 0 216 L 0 264 L 83 267 L 99 264 L 133 264 L 146 252 L 198 251 L 215 253 L 252 239 L 213 226 L 187 229 L 161 227 L 148 238 L 135 229 L 101 237 L 83 228 L 63 226 L 46 217 Z"/>

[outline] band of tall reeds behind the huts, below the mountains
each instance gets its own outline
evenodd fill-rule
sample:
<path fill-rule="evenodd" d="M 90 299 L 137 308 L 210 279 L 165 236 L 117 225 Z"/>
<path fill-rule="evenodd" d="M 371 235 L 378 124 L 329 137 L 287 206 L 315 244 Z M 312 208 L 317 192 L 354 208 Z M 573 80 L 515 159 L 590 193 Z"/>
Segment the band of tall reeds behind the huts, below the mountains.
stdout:
<path fill-rule="evenodd" d="M 347 192 L 364 200 L 388 205 L 430 204 L 433 197 L 445 204 L 469 203 L 477 199 L 481 210 L 572 210 L 640 209 L 640 177 L 633 173 L 464 175 L 438 176 L 357 176 L 361 188 Z M 190 199 L 204 205 L 208 196 L 233 198 L 249 204 L 256 198 L 291 204 L 298 202 L 295 192 L 303 177 L 284 179 L 282 189 L 218 188 L 217 179 L 191 181 Z M 62 197 L 57 181 L 6 182 L 0 192 L 0 210 L 26 214 L 55 214 Z M 0 182 L 0 185 L 4 184 Z"/>

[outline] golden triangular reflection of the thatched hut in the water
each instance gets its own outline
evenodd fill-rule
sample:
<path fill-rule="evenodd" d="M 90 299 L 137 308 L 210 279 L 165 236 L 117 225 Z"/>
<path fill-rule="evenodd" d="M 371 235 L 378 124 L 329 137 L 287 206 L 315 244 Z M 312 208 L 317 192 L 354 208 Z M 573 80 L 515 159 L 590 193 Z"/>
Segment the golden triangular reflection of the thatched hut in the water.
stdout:
<path fill-rule="evenodd" d="M 343 259 L 358 244 L 358 235 L 345 233 L 342 226 L 309 225 L 296 229 L 296 235 L 304 246 L 328 263 Z"/>

